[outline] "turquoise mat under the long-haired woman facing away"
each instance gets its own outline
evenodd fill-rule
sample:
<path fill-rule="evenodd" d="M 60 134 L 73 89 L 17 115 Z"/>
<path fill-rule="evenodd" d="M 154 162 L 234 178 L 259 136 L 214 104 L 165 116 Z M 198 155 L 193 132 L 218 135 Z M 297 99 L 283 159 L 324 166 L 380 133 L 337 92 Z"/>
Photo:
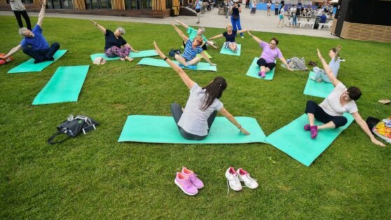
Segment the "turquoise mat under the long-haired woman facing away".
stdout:
<path fill-rule="evenodd" d="M 265 134 L 255 118 L 235 117 L 251 135 L 239 132 L 225 117 L 216 117 L 209 135 L 201 141 L 187 140 L 179 134 L 172 116 L 128 116 L 118 142 L 170 144 L 242 144 L 265 143 Z"/>

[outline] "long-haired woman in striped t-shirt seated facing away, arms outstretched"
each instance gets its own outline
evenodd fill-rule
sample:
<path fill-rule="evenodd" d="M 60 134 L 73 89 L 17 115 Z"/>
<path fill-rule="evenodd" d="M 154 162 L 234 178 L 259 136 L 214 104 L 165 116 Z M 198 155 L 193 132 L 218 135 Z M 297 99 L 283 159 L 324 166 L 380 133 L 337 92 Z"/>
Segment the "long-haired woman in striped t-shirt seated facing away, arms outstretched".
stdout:
<path fill-rule="evenodd" d="M 153 42 L 156 52 L 167 64 L 177 72 L 187 88 L 190 90 L 185 108 L 182 110 L 177 103 L 171 104 L 171 113 L 175 123 L 178 125 L 179 132 L 184 139 L 202 140 L 207 137 L 210 126 L 212 125 L 217 111 L 225 116 L 240 132 L 249 135 L 249 132 L 242 128 L 242 125 L 224 108 L 219 98 L 227 87 L 226 80 L 217 76 L 209 85 L 201 88 L 197 83 L 187 76 L 181 67 L 168 59 L 158 48 L 156 42 Z"/>

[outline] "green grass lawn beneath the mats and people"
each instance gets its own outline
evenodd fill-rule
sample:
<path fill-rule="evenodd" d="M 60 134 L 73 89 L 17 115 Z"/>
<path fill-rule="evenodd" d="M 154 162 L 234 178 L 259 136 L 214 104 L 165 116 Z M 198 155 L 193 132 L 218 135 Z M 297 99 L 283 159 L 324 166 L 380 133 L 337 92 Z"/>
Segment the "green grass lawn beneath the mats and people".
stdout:
<path fill-rule="evenodd" d="M 0 51 L 20 42 L 15 18 L 0 16 Z M 36 18 L 32 18 L 32 23 Z M 166 53 L 181 46 L 170 25 L 101 21 L 104 27 L 127 31 L 136 50 Z M 184 29 L 182 29 L 184 30 Z M 223 29 L 207 28 L 206 36 Z M 111 61 L 95 66 L 92 53 L 102 53 L 104 36 L 88 20 L 46 18 L 43 33 L 68 53 L 41 72 L 7 74 L 27 55 L 0 67 L 0 219 L 387 219 L 391 216 L 391 151 L 371 144 L 357 123 L 345 130 L 313 165 L 306 167 L 268 144 L 142 144 L 117 143 L 130 114 L 170 116 L 170 103 L 185 104 L 188 90 L 169 68 Z M 338 78 L 356 85 L 363 95 L 359 112 L 386 118 L 390 105 L 391 45 L 343 39 L 253 32 L 268 41 L 275 36 L 284 57 L 317 60 L 341 44 Z M 200 85 L 224 76 L 228 88 L 221 101 L 234 116 L 254 117 L 266 135 L 303 114 L 310 99 L 303 95 L 308 72 L 287 71 L 277 62 L 273 81 L 245 76 L 261 49 L 238 38 L 240 57 L 208 50 L 218 72 L 188 71 Z M 223 39 L 218 39 L 219 46 Z M 78 102 L 32 106 L 57 67 L 90 64 Z M 48 145 L 56 125 L 69 114 L 83 114 L 101 125 L 58 145 Z M 308 135 L 308 138 L 310 136 Z M 194 197 L 174 185 L 185 165 L 198 173 L 205 188 Z M 243 167 L 259 188 L 227 195 L 224 172 Z"/>

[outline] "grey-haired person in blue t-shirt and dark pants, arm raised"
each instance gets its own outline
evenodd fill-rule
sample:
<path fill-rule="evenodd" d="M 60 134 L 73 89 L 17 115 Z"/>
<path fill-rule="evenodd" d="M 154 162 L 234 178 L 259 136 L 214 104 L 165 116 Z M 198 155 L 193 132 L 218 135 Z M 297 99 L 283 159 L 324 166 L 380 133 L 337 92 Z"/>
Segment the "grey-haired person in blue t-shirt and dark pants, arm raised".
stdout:
<path fill-rule="evenodd" d="M 42 34 L 42 22 L 43 18 L 45 17 L 45 8 L 46 0 L 43 0 L 41 12 L 38 15 L 38 22 L 36 22 L 33 30 L 30 31 L 25 27 L 20 28 L 19 34 L 25 38 L 20 41 L 18 46 L 12 48 L 12 50 L 10 50 L 10 52 L 5 57 L 2 57 L 2 59 L 10 57 L 22 49 L 23 53 L 34 59 L 34 64 L 47 60 L 54 60 L 53 55 L 60 48 L 60 44 L 55 42 L 52 43 L 52 45 L 49 47 L 48 41 L 46 41 L 45 36 Z"/>

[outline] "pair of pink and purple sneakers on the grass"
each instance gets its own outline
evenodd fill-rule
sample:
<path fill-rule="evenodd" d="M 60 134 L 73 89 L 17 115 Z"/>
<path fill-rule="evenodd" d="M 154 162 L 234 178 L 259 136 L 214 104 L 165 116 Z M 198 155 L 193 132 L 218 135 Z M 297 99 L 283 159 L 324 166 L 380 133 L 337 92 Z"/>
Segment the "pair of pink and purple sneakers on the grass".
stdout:
<path fill-rule="evenodd" d="M 204 187 L 203 181 L 198 179 L 197 174 L 186 167 L 182 167 L 182 171 L 177 172 L 174 182 L 186 195 L 197 195 L 198 189 Z"/>

